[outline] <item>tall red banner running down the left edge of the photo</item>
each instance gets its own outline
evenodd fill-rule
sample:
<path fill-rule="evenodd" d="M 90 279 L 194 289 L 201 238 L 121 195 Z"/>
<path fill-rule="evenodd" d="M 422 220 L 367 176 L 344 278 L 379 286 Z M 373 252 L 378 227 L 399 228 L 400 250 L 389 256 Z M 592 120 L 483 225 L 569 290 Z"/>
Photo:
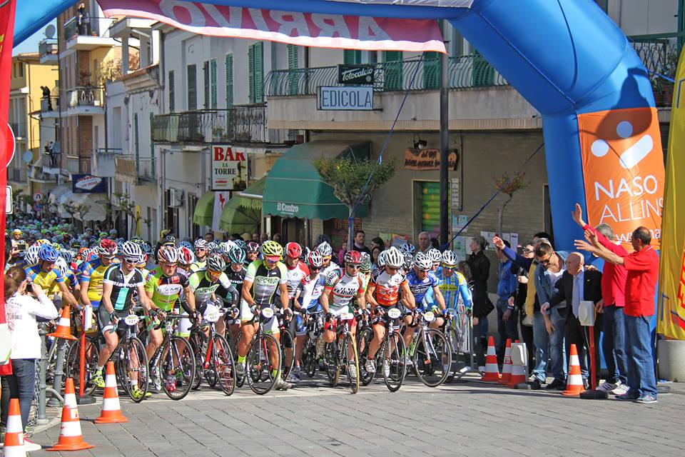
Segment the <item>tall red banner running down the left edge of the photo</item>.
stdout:
<path fill-rule="evenodd" d="M 9 154 L 14 151 L 9 151 L 6 136 L 9 134 L 9 129 L 6 128 L 7 118 L 9 116 L 9 82 L 12 70 L 12 37 L 14 35 L 14 13 L 16 11 L 15 0 L 0 1 L 0 157 L 5 161 Z M 0 201 L 2 202 L 3 211 L 0 215 L 0 233 L 2 240 L 0 241 L 0 252 L 2 260 L 0 260 L 0 271 L 4 271 L 5 267 L 5 199 L 6 199 L 6 185 L 7 174 L 0 173 Z M 4 282 L 0 282 L 0 327 L 6 327 L 5 318 L 5 294 Z M 7 331 L 6 328 L 0 328 L 0 331 Z M 2 355 L 6 354 L 9 348 L 0 348 Z M 4 358 L 4 357 L 3 357 Z M 12 366 L 9 363 L 0 364 L 0 375 L 11 374 Z"/>

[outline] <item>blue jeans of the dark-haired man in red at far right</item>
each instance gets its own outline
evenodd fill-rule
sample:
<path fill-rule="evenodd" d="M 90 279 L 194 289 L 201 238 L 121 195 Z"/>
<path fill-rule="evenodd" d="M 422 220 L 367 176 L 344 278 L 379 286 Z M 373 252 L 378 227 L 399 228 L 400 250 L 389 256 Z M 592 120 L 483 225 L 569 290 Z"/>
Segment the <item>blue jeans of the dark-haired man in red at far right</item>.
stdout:
<path fill-rule="evenodd" d="M 651 348 L 649 318 L 625 316 L 628 396 L 651 395 L 656 398 L 656 375 Z"/>

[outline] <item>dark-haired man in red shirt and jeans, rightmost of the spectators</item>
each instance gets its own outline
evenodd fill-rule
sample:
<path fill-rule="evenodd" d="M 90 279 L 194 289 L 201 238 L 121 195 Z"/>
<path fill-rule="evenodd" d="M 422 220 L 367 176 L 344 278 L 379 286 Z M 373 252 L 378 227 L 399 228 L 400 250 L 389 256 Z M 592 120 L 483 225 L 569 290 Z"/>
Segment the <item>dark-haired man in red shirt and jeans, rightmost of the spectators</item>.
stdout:
<path fill-rule="evenodd" d="M 654 315 L 654 292 L 659 276 L 659 256 L 650 246 L 651 233 L 645 227 L 633 231 L 630 243 L 634 252 L 619 256 L 602 246 L 593 231 L 585 231 L 588 243 L 577 240 L 576 247 L 626 268 L 624 315 L 626 319 L 626 359 L 628 392 L 617 400 L 656 403 L 656 375 L 651 348 L 649 317 Z"/>

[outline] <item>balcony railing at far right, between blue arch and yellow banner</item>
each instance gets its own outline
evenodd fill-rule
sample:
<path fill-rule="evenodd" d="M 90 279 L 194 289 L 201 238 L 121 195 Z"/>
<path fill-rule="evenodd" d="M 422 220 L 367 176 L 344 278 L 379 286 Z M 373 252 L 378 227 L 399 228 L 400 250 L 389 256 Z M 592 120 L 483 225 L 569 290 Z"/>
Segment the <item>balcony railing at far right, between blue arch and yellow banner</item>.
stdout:
<path fill-rule="evenodd" d="M 676 67 L 684 39 L 684 33 L 628 37 L 649 73 L 656 106 L 671 106 L 673 82 L 667 78 L 675 79 L 676 77 Z"/>

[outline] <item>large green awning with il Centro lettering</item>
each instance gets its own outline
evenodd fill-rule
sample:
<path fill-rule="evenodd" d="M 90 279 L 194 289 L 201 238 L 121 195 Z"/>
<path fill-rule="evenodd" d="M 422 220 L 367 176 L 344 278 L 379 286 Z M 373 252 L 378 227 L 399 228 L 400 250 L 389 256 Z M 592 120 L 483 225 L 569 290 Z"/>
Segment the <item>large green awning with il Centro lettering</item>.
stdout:
<path fill-rule="evenodd" d="M 371 155 L 370 141 L 310 141 L 285 151 L 266 176 L 262 205 L 264 214 L 302 219 L 347 219 L 349 210 L 333 194 L 333 187 L 321 181 L 312 164 L 321 156 L 353 157 L 361 161 Z M 357 208 L 357 217 L 368 213 L 367 205 Z"/>

